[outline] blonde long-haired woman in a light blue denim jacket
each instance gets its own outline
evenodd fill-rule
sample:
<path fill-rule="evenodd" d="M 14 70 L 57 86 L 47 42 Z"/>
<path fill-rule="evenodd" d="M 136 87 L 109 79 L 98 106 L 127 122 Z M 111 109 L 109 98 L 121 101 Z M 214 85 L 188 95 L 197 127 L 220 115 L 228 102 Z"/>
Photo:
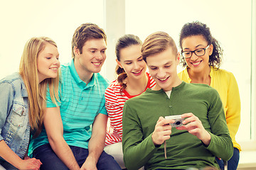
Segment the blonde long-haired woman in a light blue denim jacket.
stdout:
<path fill-rule="evenodd" d="M 41 162 L 26 156 L 30 132 L 41 132 L 46 88 L 58 97 L 58 49 L 46 37 L 26 42 L 18 73 L 0 81 L 0 169 L 39 169 Z"/>

